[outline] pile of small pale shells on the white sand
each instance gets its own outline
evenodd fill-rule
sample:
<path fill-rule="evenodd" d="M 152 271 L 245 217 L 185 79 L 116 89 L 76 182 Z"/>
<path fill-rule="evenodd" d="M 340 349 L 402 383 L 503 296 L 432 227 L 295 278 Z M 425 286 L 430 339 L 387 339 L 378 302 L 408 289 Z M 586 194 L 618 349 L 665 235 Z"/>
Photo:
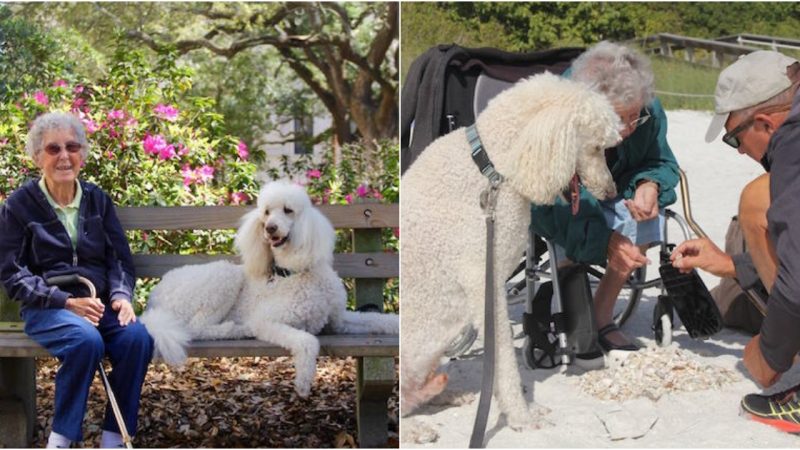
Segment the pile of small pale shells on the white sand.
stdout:
<path fill-rule="evenodd" d="M 718 389 L 741 379 L 738 372 L 702 364 L 677 347 L 649 347 L 614 367 L 587 372 L 581 377 L 580 387 L 601 400 L 644 397 L 657 401 L 670 392 Z"/>

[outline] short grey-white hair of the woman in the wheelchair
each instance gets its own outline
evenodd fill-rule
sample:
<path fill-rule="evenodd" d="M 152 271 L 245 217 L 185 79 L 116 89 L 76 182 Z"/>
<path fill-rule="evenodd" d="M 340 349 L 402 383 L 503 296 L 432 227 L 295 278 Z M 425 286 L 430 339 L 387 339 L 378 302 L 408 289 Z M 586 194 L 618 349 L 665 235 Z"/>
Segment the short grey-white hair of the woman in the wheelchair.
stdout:
<path fill-rule="evenodd" d="M 602 92 L 614 105 L 646 105 L 653 100 L 653 69 L 638 51 L 602 41 L 572 63 L 572 79 Z"/>

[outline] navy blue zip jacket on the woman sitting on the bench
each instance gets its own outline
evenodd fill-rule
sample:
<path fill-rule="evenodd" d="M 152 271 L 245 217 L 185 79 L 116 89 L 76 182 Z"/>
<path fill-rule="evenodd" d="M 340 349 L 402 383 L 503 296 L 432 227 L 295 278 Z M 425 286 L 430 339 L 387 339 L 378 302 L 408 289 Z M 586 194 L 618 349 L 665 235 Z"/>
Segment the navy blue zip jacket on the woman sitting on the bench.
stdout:
<path fill-rule="evenodd" d="M 57 288 L 45 279 L 82 275 L 106 304 L 133 298 L 136 277 L 125 233 L 114 204 L 98 186 L 81 181 L 78 241 L 73 249 L 66 228 L 38 186 L 25 183 L 0 207 L 0 282 L 22 308 L 64 308 L 69 297 L 85 297 L 81 285 Z"/>

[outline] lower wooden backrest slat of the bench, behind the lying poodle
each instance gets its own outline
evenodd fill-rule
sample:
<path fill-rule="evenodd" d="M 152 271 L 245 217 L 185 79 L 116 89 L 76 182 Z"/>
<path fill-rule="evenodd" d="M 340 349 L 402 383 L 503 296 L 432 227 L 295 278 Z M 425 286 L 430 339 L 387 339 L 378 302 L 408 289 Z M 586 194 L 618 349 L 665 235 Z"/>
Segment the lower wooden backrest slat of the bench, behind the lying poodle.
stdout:
<path fill-rule="evenodd" d="M 136 276 L 161 277 L 170 269 L 188 264 L 205 264 L 229 260 L 238 263 L 235 255 L 133 255 Z M 333 268 L 344 278 L 393 278 L 399 273 L 397 255 L 393 253 L 337 253 Z"/>

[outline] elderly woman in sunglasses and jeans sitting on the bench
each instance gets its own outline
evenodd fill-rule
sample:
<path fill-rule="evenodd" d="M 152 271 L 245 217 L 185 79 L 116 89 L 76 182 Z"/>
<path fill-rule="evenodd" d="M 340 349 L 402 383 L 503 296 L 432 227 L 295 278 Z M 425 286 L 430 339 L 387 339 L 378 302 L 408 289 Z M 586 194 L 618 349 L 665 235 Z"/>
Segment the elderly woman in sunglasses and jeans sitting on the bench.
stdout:
<path fill-rule="evenodd" d="M 135 277 L 130 248 L 111 199 L 78 180 L 89 149 L 81 122 L 66 113 L 38 117 L 26 151 L 41 170 L 0 208 L 0 281 L 21 303 L 25 333 L 61 361 L 48 447 L 82 439 L 81 424 L 94 373 L 104 355 L 126 428 L 135 433 L 139 396 L 153 341 L 131 306 Z M 48 279 L 80 275 L 82 285 L 49 286 Z M 120 447 L 108 408 L 101 446 Z"/>

